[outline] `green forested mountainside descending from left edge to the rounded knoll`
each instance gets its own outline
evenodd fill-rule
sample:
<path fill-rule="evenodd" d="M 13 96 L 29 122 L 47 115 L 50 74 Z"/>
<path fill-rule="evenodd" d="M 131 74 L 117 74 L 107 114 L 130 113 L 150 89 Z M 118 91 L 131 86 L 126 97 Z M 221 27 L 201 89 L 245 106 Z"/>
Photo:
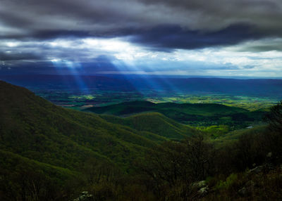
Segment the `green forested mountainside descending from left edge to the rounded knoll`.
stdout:
<path fill-rule="evenodd" d="M 157 118 L 145 129 L 140 129 L 147 124 L 144 116 L 113 124 L 90 112 L 61 108 L 1 81 L 0 97 L 0 150 L 72 171 L 89 158 L 128 169 L 156 143 L 197 132 L 158 114 L 148 116 Z"/>

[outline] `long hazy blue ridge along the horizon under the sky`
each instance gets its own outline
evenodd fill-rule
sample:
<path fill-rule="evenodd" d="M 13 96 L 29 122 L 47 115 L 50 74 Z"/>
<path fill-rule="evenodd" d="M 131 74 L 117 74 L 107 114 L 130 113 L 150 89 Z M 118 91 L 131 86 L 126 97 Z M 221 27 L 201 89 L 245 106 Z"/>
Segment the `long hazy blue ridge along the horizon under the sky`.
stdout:
<path fill-rule="evenodd" d="M 282 79 L 183 78 L 131 75 L 0 75 L 0 79 L 29 89 L 88 89 L 120 91 L 173 91 L 278 96 Z M 78 82 L 78 79 L 80 82 Z"/>

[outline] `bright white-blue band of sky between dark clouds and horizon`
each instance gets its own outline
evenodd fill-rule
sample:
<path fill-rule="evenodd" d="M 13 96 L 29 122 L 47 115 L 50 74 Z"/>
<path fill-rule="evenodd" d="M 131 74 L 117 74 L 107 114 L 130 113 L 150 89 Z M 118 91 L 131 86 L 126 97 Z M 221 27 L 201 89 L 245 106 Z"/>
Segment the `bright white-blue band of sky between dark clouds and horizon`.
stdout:
<path fill-rule="evenodd" d="M 83 68 L 84 63 L 97 65 L 104 56 L 115 70 L 94 73 L 185 74 L 215 76 L 282 77 L 282 51 L 269 46 L 282 39 L 248 41 L 235 46 L 194 50 L 154 51 L 138 46 L 125 38 L 54 39 L 47 41 L 0 41 L 5 56 L 26 56 L 21 61 L 60 63 L 61 67 Z M 259 51 L 254 51 L 259 49 Z M 38 57 L 35 56 L 38 53 Z M 31 57 L 29 57 L 32 55 Z M 6 59 L 2 65 L 13 65 Z M 78 73 L 79 70 L 77 71 Z"/>

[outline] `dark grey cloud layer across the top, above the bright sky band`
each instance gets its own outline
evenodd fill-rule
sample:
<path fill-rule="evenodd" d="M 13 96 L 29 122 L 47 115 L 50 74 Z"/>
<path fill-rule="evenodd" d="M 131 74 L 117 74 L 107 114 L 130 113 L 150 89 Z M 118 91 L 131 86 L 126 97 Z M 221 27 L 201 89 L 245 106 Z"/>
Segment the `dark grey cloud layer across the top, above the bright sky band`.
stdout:
<path fill-rule="evenodd" d="M 129 36 L 165 50 L 282 36 L 280 0 L 2 0 L 0 4 L 2 39 Z"/>

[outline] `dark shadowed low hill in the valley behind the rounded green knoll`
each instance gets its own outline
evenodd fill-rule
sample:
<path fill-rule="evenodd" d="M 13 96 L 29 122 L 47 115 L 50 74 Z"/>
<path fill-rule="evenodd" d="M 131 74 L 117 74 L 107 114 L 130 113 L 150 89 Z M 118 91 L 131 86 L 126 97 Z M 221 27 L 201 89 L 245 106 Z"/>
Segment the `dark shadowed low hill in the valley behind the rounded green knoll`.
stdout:
<path fill-rule="evenodd" d="M 133 119 L 140 116 L 149 115 L 149 112 L 159 112 L 164 116 L 183 124 L 195 126 L 211 126 L 211 125 L 228 125 L 235 128 L 247 127 L 252 122 L 262 121 L 266 114 L 265 111 L 255 110 L 248 111 L 243 108 L 235 108 L 221 104 L 190 104 L 190 103 L 151 103 L 147 101 L 133 101 L 127 103 L 119 103 L 107 105 L 104 107 L 87 108 L 85 111 L 103 114 L 101 117 L 110 122 L 119 122 L 130 125 L 135 122 Z M 142 113 L 142 115 L 135 115 Z M 107 115 L 117 115 L 126 117 L 118 119 L 118 117 L 109 117 Z M 130 123 L 131 122 L 131 123 Z"/>

